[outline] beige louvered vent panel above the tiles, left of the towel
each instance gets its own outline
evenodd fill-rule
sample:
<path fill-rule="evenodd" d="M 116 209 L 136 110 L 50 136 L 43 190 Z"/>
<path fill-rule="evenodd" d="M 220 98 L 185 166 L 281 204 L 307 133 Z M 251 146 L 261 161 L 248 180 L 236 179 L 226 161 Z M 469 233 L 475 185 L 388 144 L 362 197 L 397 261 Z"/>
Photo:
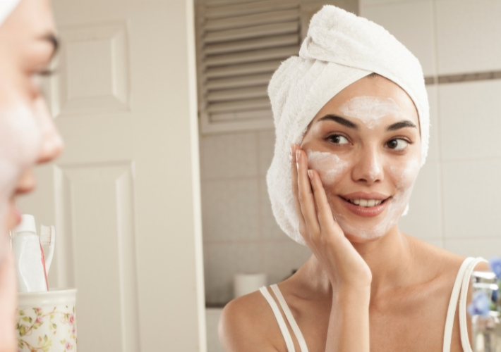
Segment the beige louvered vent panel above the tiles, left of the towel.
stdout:
<path fill-rule="evenodd" d="M 198 11 L 202 132 L 272 127 L 267 84 L 297 55 L 297 1 L 210 1 Z"/>

